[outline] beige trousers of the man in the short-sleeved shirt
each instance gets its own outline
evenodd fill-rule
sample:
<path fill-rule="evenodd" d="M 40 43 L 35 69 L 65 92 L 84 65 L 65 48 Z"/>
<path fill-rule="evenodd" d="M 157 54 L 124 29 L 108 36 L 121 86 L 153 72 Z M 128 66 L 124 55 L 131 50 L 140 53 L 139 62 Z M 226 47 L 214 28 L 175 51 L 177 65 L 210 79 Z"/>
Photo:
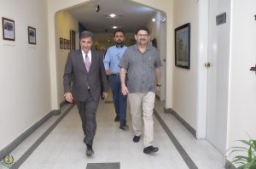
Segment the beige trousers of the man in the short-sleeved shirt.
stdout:
<path fill-rule="evenodd" d="M 154 109 L 155 93 L 129 93 L 128 99 L 131 106 L 132 128 L 136 136 L 144 133 L 144 147 L 153 145 L 154 138 Z M 143 121 L 142 121 L 143 110 Z M 144 122 L 144 127 L 143 127 Z M 144 132 L 143 132 L 144 131 Z"/>

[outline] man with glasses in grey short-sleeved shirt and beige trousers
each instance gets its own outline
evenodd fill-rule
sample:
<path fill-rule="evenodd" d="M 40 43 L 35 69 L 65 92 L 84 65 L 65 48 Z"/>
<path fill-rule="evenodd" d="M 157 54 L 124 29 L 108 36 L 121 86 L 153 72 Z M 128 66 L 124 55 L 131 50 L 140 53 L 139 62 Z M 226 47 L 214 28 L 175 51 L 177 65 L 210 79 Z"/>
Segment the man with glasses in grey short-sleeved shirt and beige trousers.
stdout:
<path fill-rule="evenodd" d="M 133 141 L 139 142 L 144 134 L 143 152 L 157 152 L 153 146 L 154 139 L 154 98 L 156 90 L 160 90 L 160 54 L 156 48 L 149 45 L 148 28 L 141 26 L 135 33 L 137 44 L 126 49 L 120 60 L 120 80 L 122 93 L 127 95 L 131 105 L 132 128 L 135 133 Z M 125 72 L 128 72 L 128 85 L 125 85 Z M 142 121 L 143 108 L 143 121 Z M 144 131 L 144 132 L 143 132 Z"/>

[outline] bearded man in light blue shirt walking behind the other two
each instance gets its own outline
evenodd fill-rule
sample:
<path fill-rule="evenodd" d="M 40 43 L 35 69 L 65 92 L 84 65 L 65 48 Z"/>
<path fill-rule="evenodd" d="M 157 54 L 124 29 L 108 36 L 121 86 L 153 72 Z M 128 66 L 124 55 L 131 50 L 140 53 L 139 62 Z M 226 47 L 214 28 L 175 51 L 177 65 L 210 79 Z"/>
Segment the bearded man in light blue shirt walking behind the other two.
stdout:
<path fill-rule="evenodd" d="M 106 73 L 109 76 L 110 86 L 113 94 L 113 104 L 116 113 L 114 121 L 119 121 L 119 128 L 125 130 L 128 128 L 126 125 L 127 96 L 121 93 L 119 60 L 125 53 L 127 47 L 124 45 L 124 31 L 114 31 L 113 35 L 115 45 L 108 48 L 108 51 L 105 54 L 104 66 Z M 127 82 L 127 78 L 125 78 L 125 82 Z"/>

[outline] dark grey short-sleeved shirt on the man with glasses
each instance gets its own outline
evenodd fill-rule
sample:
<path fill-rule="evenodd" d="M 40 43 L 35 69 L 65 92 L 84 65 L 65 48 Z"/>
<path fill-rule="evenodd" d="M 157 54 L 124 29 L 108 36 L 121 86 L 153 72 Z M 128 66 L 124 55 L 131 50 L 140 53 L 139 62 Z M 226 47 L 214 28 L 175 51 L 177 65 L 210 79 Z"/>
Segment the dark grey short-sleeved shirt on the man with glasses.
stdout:
<path fill-rule="evenodd" d="M 161 65 L 160 54 L 153 46 L 148 45 L 144 53 L 139 51 L 137 44 L 127 48 L 119 67 L 127 70 L 129 93 L 155 93 L 155 68 Z"/>

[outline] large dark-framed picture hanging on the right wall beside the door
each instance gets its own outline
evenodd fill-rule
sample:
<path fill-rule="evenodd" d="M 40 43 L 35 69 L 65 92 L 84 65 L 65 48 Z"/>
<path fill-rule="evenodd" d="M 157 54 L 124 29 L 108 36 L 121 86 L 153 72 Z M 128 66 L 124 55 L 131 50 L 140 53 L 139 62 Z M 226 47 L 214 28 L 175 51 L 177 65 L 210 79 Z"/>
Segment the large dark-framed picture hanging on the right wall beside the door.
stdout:
<path fill-rule="evenodd" d="M 175 29 L 175 65 L 190 69 L 190 23 Z"/>

